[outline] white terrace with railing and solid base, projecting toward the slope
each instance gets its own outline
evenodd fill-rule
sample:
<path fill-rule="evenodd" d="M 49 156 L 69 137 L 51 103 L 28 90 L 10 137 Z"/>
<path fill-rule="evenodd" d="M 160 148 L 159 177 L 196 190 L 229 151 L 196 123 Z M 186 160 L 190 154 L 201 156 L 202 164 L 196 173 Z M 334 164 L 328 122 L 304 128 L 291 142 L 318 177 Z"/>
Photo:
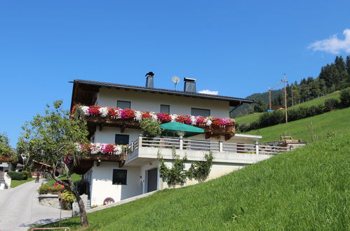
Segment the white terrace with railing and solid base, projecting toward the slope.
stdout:
<path fill-rule="evenodd" d="M 171 160 L 172 149 L 187 160 L 203 160 L 203 153 L 213 152 L 214 162 L 253 164 L 278 155 L 290 148 L 282 146 L 266 146 L 260 144 L 235 144 L 223 141 L 193 140 L 180 138 L 147 138 L 139 137 L 126 150 L 125 165 L 140 166 L 152 162 L 160 151 L 164 159 Z"/>

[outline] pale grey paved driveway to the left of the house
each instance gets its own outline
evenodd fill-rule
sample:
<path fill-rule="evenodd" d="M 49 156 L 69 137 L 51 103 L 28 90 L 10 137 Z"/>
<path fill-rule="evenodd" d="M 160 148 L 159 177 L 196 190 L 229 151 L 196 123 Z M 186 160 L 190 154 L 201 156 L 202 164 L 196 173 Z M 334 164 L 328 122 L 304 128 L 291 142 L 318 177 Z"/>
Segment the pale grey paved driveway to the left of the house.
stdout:
<path fill-rule="evenodd" d="M 0 190 L 0 230 L 27 230 L 32 225 L 46 224 L 60 219 L 60 209 L 39 204 L 36 190 L 40 183 L 30 181 L 16 188 Z M 62 218 L 72 211 L 62 210 Z"/>

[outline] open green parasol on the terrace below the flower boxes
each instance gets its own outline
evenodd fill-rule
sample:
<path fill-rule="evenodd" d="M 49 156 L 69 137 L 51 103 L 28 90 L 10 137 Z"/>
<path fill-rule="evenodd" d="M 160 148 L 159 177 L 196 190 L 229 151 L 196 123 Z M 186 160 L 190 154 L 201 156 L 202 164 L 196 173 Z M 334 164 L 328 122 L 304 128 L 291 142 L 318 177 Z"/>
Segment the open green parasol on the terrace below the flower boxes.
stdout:
<path fill-rule="evenodd" d="M 195 136 L 196 134 L 204 133 L 204 130 L 202 128 L 194 127 L 191 125 L 185 125 L 183 123 L 177 123 L 175 121 L 170 123 L 163 123 L 161 125 L 161 128 L 163 129 L 162 135 L 166 135 L 166 136 L 170 134 L 170 135 L 179 137 L 180 135 L 178 133 L 183 132 L 184 137 L 192 137 L 192 136 Z"/>

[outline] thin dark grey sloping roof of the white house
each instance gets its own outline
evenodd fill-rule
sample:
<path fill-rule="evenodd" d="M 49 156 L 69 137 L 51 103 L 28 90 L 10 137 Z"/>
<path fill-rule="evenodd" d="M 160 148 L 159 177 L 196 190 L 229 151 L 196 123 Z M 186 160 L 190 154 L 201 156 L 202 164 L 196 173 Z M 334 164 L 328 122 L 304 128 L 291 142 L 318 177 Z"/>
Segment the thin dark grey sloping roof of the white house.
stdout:
<path fill-rule="evenodd" d="M 239 104 L 244 104 L 244 103 L 245 104 L 254 103 L 254 100 L 252 100 L 252 99 L 227 97 L 227 96 L 215 95 L 215 94 L 203 94 L 203 93 L 198 93 L 198 92 L 185 92 L 185 91 L 180 91 L 180 90 L 168 90 L 168 89 L 153 88 L 153 87 L 140 87 L 140 86 L 133 86 L 133 85 L 123 85 L 123 84 L 118 84 L 118 83 L 105 83 L 105 82 L 98 82 L 98 81 L 92 81 L 92 80 L 74 79 L 74 81 L 70 82 L 70 83 L 95 85 L 95 86 L 100 86 L 100 87 L 114 87 L 117 89 L 126 89 L 126 90 L 140 90 L 142 92 L 174 94 L 174 95 L 196 97 L 196 98 L 203 98 L 203 99 L 224 100 L 224 101 L 229 101 L 230 106 L 237 106 Z"/>

